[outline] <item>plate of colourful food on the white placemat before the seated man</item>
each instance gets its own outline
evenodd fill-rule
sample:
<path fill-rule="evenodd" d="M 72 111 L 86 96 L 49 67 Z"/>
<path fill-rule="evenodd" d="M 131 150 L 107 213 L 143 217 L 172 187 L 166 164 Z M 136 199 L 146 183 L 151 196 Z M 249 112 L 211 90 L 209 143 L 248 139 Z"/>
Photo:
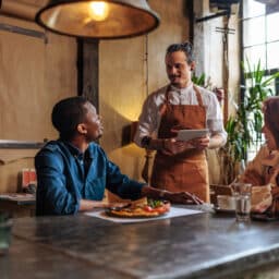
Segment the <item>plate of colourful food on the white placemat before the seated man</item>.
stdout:
<path fill-rule="evenodd" d="M 155 218 L 170 211 L 170 202 L 143 198 L 125 207 L 108 208 L 106 214 L 119 218 Z"/>

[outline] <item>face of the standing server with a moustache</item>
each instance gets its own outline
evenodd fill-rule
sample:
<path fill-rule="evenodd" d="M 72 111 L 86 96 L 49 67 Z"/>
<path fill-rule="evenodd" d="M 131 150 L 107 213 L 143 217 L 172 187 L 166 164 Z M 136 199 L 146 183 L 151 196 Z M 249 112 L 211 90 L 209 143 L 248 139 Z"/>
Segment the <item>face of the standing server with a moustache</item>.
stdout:
<path fill-rule="evenodd" d="M 175 87 L 183 88 L 191 83 L 191 70 L 194 62 L 187 63 L 186 54 L 183 51 L 175 51 L 166 56 L 166 71 L 170 83 Z"/>

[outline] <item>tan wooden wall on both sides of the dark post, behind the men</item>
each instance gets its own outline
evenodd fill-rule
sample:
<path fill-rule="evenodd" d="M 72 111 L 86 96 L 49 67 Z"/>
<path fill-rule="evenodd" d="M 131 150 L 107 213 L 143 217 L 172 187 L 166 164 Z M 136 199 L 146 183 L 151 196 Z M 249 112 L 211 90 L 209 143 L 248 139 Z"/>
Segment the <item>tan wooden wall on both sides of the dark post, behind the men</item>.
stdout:
<path fill-rule="evenodd" d="M 148 34 L 147 49 L 146 36 L 99 43 L 99 112 L 105 124 L 100 144 L 111 160 L 134 179 L 141 179 L 144 150 L 123 144 L 122 134 L 138 118 L 147 94 L 168 82 L 166 48 L 189 37 L 185 3 L 149 0 L 161 16 L 161 24 Z M 34 23 L 4 16 L 0 16 L 0 22 L 41 31 Z M 0 32 L 0 138 L 56 137 L 50 124 L 52 106 L 77 94 L 75 40 L 51 33 L 47 36 L 49 44 L 45 45 L 40 39 Z M 0 166 L 0 192 L 16 187 L 22 167 L 33 167 L 33 158 Z"/>

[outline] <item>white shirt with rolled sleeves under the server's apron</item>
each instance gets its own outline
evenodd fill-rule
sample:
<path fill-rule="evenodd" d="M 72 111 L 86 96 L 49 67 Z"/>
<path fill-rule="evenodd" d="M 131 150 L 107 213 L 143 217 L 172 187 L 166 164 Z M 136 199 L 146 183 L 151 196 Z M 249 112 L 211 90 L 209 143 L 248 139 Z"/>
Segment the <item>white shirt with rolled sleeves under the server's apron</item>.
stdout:
<path fill-rule="evenodd" d="M 210 135 L 219 134 L 223 138 L 222 144 L 226 144 L 227 132 L 223 129 L 222 112 L 216 95 L 203 87 L 196 87 L 201 92 L 203 106 L 206 109 L 206 125 Z M 143 105 L 134 138 L 138 146 L 142 146 L 141 142 L 144 136 L 157 136 L 161 120 L 159 108 L 165 102 L 167 88 L 168 85 L 151 93 Z M 168 96 L 171 105 L 198 105 L 193 84 L 185 88 L 171 86 Z"/>

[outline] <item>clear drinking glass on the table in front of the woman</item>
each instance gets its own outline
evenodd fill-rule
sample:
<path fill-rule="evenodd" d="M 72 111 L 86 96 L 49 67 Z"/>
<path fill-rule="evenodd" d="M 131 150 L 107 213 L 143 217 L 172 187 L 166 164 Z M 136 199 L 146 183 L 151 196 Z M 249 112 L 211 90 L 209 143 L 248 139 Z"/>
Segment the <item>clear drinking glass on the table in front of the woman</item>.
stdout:
<path fill-rule="evenodd" d="M 235 201 L 235 217 L 236 221 L 250 221 L 251 211 L 251 189 L 248 183 L 233 183 L 232 193 Z"/>

